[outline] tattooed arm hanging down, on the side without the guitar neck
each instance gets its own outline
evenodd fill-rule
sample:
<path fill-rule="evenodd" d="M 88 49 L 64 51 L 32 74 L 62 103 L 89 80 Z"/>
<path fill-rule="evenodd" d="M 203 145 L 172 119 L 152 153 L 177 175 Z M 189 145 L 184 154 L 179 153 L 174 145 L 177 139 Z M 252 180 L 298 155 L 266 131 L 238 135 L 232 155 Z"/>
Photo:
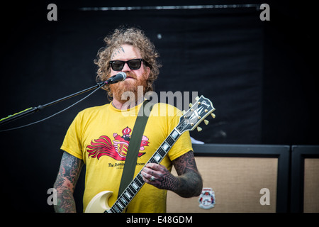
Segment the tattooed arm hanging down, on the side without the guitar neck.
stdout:
<path fill-rule="evenodd" d="M 82 166 L 82 160 L 69 153 L 63 153 L 60 170 L 54 184 L 55 189 L 57 189 L 57 205 L 54 206 L 55 212 L 77 212 L 73 192 Z"/>

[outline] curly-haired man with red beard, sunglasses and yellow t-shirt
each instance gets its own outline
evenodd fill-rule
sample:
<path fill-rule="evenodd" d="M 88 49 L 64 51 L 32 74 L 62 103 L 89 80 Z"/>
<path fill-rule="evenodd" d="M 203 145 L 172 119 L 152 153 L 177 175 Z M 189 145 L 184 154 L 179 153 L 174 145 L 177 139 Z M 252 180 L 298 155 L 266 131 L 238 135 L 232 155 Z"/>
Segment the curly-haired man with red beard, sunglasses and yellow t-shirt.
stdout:
<path fill-rule="evenodd" d="M 127 146 L 116 147 L 121 141 L 113 135 L 123 132 L 125 141 L 122 142 L 129 143 L 130 129 L 144 101 L 144 97 L 138 94 L 138 87 L 142 87 L 143 94 L 152 91 L 152 84 L 159 74 L 159 55 L 140 29 L 119 28 L 104 40 L 106 47 L 99 50 L 94 61 L 99 67 L 97 80 L 106 81 L 119 72 L 125 72 L 127 77 L 123 82 L 103 87 L 111 104 L 81 111 L 69 126 L 61 147 L 64 153 L 55 182 L 57 212 L 76 211 L 73 192 L 84 164 L 84 211 L 89 201 L 105 190 L 113 192 L 106 204 L 110 207 L 114 204 L 125 163 L 123 154 L 127 151 L 121 149 Z M 125 92 L 132 92 L 134 96 L 130 96 L 129 100 L 123 99 Z M 129 114 L 124 115 L 123 109 Z M 125 204 L 126 212 L 165 212 L 167 190 L 183 197 L 201 194 L 203 182 L 196 167 L 188 131 L 178 138 L 162 162 L 145 165 L 177 126 L 180 116 L 181 111 L 174 106 L 154 104 L 142 137 L 145 141 L 145 145 L 140 147 L 143 155 L 138 157 L 135 168 L 135 175 L 142 170 L 142 179 L 147 184 L 142 186 L 130 204 Z M 90 156 L 93 147 L 96 155 Z M 178 176 L 170 173 L 172 165 Z"/>

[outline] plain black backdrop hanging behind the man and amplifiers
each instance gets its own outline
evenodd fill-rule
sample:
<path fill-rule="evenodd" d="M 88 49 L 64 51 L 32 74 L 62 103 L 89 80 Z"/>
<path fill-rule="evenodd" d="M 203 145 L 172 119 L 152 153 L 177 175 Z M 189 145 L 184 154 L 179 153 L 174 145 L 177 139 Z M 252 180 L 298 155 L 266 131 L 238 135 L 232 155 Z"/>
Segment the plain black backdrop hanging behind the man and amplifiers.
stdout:
<path fill-rule="evenodd" d="M 145 1 L 147 2 L 147 1 Z M 49 1 L 4 4 L 1 14 L 1 116 L 46 104 L 95 84 L 93 60 L 105 35 L 125 24 L 145 30 L 163 67 L 155 91 L 198 92 L 216 107 L 216 119 L 191 132 L 205 143 L 318 144 L 314 13 L 311 7 L 268 1 L 270 21 L 256 7 L 82 11 L 89 6 L 191 6 L 235 1 L 104 3 Z M 249 4 L 261 4 L 250 1 Z M 8 16 L 9 15 L 9 16 Z M 1 126 L 38 121 L 83 97 L 47 107 Z M 190 97 L 191 98 L 191 97 Z M 1 192 L 8 210 L 52 211 L 47 189 L 60 163 L 60 145 L 77 112 L 105 104 L 101 90 L 72 109 L 27 128 L 1 132 Z M 82 188 L 83 179 L 80 182 Z M 18 195 L 18 196 L 16 196 Z M 77 194 L 81 200 L 81 193 Z M 81 211 L 79 205 L 79 211 Z"/>

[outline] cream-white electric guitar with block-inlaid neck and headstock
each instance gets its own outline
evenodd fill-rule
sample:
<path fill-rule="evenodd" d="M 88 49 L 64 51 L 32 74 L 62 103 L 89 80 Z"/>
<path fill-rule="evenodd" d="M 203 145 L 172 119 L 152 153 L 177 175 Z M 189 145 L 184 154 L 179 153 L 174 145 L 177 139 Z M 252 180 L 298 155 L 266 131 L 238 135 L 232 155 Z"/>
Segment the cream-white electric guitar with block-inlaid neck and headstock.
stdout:
<path fill-rule="evenodd" d="M 189 104 L 189 106 L 190 109 L 186 112 L 183 111 L 183 116 L 179 118 L 178 125 L 173 129 L 169 136 L 167 136 L 162 145 L 159 146 L 147 163 L 158 164 L 161 162 L 182 133 L 194 130 L 198 124 L 206 118 L 206 116 L 215 110 L 211 101 L 206 99 L 204 96 L 199 98 L 197 97 L 196 102 L 194 104 Z M 215 118 L 215 114 L 211 115 Z M 208 121 L 205 120 L 205 123 L 207 125 Z M 197 127 L 197 130 L 201 131 L 201 128 Z M 103 191 L 96 194 L 96 196 L 91 199 L 89 204 L 86 206 L 85 213 L 122 213 L 145 184 L 142 179 L 141 172 L 142 170 L 135 176 L 132 182 L 128 184 L 128 187 L 126 187 L 121 196 L 118 196 L 118 199 L 111 208 L 108 206 L 108 198 L 111 194 L 113 194 L 113 192 Z"/>

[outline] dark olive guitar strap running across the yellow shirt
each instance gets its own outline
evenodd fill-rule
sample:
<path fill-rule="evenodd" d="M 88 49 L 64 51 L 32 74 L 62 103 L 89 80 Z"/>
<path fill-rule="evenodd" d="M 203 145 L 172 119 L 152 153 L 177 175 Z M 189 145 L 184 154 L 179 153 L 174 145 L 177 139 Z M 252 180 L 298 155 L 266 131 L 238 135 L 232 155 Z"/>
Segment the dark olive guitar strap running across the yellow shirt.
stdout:
<path fill-rule="evenodd" d="M 150 100 L 145 100 L 140 106 L 140 111 L 138 111 L 138 117 L 136 118 L 132 135 L 130 136 L 130 144 L 128 145 L 128 153 L 125 157 L 125 164 L 123 169 L 123 174 L 120 183 L 120 189 L 118 189 L 118 196 L 122 194 L 128 184 L 132 182 L 136 167 L 136 162 L 138 160 L 138 151 L 140 150 L 140 143 L 142 141 L 142 135 L 147 123 L 148 116 L 150 114 L 145 114 L 145 105 Z M 152 106 L 150 106 L 150 111 L 152 111 Z M 150 113 L 150 112 L 149 112 Z"/>

